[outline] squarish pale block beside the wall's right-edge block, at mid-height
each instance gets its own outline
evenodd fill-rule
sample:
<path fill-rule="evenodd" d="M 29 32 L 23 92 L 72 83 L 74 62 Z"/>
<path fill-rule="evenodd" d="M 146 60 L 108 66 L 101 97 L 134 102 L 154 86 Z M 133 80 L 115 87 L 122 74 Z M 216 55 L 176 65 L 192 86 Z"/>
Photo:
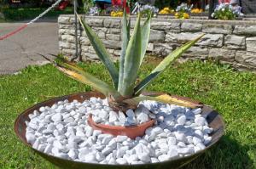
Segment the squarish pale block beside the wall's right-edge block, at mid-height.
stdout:
<path fill-rule="evenodd" d="M 246 48 L 246 37 L 227 35 L 224 38 L 226 48 Z"/>

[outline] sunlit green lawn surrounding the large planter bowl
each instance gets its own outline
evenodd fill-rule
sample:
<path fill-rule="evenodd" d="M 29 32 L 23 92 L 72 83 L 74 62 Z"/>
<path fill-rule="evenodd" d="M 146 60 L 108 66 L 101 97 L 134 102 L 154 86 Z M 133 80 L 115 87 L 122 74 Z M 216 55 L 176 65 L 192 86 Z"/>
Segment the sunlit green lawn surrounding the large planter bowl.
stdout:
<path fill-rule="evenodd" d="M 143 66 L 146 76 L 154 65 Z M 110 82 L 102 65 L 85 70 Z M 52 65 L 32 66 L 0 76 L 0 168 L 56 168 L 21 144 L 14 132 L 17 115 L 33 104 L 90 87 L 63 76 Z M 148 90 L 175 93 L 212 105 L 224 117 L 219 144 L 184 168 L 256 168 L 256 75 L 201 61 L 173 65 Z"/>

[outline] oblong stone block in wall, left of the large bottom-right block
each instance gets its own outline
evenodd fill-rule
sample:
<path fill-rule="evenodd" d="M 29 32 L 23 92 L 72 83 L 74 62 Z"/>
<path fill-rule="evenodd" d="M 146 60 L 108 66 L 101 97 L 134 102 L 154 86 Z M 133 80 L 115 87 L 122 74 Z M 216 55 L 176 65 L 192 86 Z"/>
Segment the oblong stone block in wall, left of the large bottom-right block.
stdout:
<path fill-rule="evenodd" d="M 220 59 L 226 61 L 235 60 L 236 51 L 224 48 L 210 48 L 209 58 Z"/>

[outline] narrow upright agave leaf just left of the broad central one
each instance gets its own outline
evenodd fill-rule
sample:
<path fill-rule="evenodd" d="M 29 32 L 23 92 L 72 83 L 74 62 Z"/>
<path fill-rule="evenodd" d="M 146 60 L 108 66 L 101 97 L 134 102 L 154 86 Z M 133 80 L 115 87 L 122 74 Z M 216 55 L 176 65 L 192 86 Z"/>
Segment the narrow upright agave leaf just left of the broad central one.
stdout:
<path fill-rule="evenodd" d="M 122 45 L 122 51 L 119 59 L 119 90 L 120 90 L 120 87 L 122 87 L 122 82 L 123 82 L 126 48 L 128 46 L 128 42 L 130 41 L 130 23 L 131 23 L 130 20 L 129 22 L 127 21 L 126 10 L 124 9 L 123 45 Z"/>

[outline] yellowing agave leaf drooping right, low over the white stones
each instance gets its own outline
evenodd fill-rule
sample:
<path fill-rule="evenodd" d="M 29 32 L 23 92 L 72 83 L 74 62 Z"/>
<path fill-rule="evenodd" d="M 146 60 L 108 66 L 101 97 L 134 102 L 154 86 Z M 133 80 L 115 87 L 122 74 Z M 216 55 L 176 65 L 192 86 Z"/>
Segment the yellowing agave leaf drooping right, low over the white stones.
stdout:
<path fill-rule="evenodd" d="M 158 101 L 164 104 L 176 104 L 184 107 L 189 107 L 189 108 L 196 108 L 196 107 L 201 107 L 202 104 L 195 104 L 183 99 L 177 99 L 176 97 L 171 96 L 170 94 L 156 94 L 156 95 L 151 95 L 151 96 L 138 96 L 132 99 L 125 99 L 123 102 L 126 104 L 131 104 L 131 105 L 137 105 L 141 101 L 144 100 L 154 100 Z"/>

